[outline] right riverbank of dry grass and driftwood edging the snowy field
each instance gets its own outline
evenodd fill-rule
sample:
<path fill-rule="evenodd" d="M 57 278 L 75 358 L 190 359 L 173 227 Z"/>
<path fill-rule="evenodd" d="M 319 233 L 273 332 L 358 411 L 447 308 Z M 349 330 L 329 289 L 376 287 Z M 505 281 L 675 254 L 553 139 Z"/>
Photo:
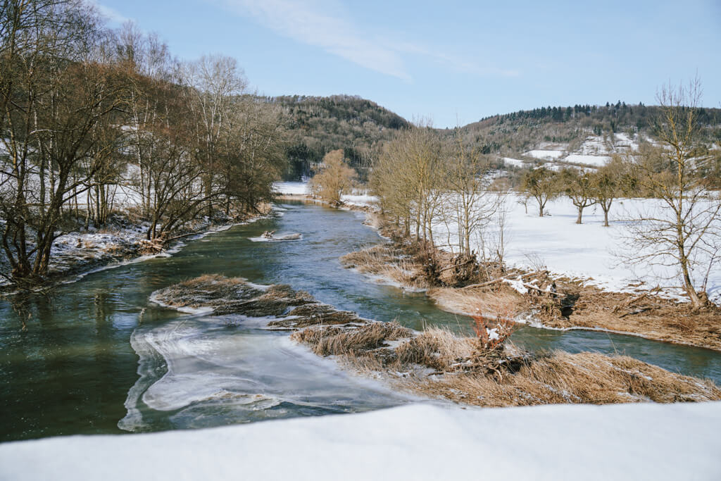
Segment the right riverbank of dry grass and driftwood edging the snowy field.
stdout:
<path fill-rule="evenodd" d="M 657 290 L 607 291 L 585 279 L 454 257 L 438 247 L 381 229 L 392 243 L 342 257 L 348 268 L 423 290 L 441 309 L 503 317 L 555 330 L 605 330 L 721 350 L 721 308 L 692 309 Z"/>

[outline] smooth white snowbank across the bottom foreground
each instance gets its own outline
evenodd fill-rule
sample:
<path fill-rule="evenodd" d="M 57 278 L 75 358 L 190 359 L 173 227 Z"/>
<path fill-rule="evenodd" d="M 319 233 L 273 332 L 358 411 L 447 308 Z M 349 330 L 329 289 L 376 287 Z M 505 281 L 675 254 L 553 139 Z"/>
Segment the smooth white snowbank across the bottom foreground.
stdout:
<path fill-rule="evenodd" d="M 7 480 L 718 480 L 721 403 L 407 405 L 0 445 Z"/>

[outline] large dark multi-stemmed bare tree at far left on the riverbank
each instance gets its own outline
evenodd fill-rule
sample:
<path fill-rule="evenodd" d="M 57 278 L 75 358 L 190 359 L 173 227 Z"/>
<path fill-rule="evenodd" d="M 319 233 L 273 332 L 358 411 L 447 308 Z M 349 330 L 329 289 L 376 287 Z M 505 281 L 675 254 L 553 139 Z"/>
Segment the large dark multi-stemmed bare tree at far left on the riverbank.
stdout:
<path fill-rule="evenodd" d="M 12 81 L 3 85 L 1 141 L 9 155 L 0 191 L 1 242 L 9 277 L 32 284 L 47 273 L 63 207 L 89 189 L 112 155 L 108 136 L 122 123 L 123 81 L 115 66 L 93 58 L 97 20 L 83 4 L 12 3 L 17 11 L 30 9 L 31 27 L 25 48 L 3 58 Z"/>

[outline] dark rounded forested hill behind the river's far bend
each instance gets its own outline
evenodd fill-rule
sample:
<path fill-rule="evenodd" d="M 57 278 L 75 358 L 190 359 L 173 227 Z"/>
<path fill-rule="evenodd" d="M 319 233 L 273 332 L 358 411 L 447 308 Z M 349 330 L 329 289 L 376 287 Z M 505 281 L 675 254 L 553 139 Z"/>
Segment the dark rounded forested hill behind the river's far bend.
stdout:
<path fill-rule="evenodd" d="M 352 167 L 363 176 L 373 152 L 407 120 L 358 96 L 306 97 L 292 95 L 265 97 L 279 105 L 288 116 L 291 143 L 288 146 L 288 180 L 309 175 L 324 154 L 344 149 Z"/>

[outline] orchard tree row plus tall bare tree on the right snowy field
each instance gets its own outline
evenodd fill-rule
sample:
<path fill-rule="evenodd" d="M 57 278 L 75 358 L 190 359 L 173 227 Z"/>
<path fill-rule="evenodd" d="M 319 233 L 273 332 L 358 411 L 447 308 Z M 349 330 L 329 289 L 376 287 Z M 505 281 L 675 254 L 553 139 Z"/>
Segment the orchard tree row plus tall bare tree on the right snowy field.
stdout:
<path fill-rule="evenodd" d="M 593 172 L 540 167 L 526 172 L 521 182 L 523 193 L 536 200 L 539 216 L 548 200 L 566 195 L 578 209 L 577 224 L 589 206 L 600 206 L 603 225 L 609 226 L 616 198 L 652 200 L 625 213 L 619 255 L 644 269 L 671 267 L 694 307 L 708 302 L 707 281 L 721 253 L 721 196 L 709 179 L 719 159 L 702 141 L 709 138 L 704 130 L 714 124 L 700 100 L 698 80 L 687 87 L 663 87 L 653 119 L 656 144 L 614 155 Z"/>

